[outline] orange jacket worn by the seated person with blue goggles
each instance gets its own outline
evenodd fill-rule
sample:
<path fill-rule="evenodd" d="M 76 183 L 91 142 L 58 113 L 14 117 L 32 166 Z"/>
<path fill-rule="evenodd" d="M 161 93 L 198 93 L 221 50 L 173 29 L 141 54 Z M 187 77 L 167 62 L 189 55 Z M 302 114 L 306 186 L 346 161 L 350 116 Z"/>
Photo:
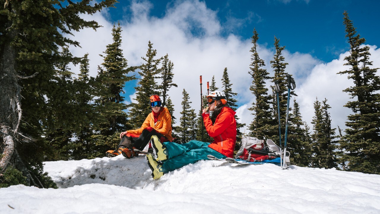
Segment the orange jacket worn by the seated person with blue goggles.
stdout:
<path fill-rule="evenodd" d="M 158 115 L 156 124 L 154 124 L 153 113 L 150 112 L 148 117 L 146 117 L 144 123 L 142 123 L 141 128 L 128 130 L 127 132 L 130 134 L 140 135 L 142 133 L 142 130 L 147 127 L 152 127 L 157 132 L 163 134 L 163 136 L 165 136 L 169 141 L 173 141 L 173 137 L 171 136 L 171 115 L 166 107 L 163 108 L 164 109 L 162 112 Z"/>

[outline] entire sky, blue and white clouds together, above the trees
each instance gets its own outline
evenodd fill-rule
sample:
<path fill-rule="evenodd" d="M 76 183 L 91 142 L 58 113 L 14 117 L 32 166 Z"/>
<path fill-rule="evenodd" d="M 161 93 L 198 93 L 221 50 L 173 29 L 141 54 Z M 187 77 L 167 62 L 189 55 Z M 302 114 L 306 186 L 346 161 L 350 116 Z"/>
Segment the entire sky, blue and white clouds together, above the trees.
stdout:
<path fill-rule="evenodd" d="M 379 25 L 380 1 L 353 0 L 120 0 L 117 8 L 109 8 L 93 16 L 103 27 L 94 32 L 84 29 L 75 33 L 75 40 L 82 48 L 71 47 L 75 56 L 89 53 L 90 75 L 97 75 L 101 64 L 99 56 L 106 45 L 112 42 L 111 29 L 117 21 L 122 26 L 122 49 L 128 65 L 141 65 L 147 43 L 151 41 L 157 49 L 157 57 L 169 54 L 174 63 L 174 82 L 178 88 L 171 88 L 169 96 L 175 105 L 174 116 L 180 118 L 179 106 L 182 90 L 190 94 L 190 108 L 199 109 L 199 75 L 203 81 L 215 76 L 217 87 L 225 67 L 233 84 L 239 108 L 237 115 L 241 123 L 252 121 L 252 106 L 255 97 L 249 91 L 252 78 L 248 74 L 251 63 L 251 38 L 254 28 L 258 31 L 258 53 L 264 60 L 264 69 L 272 75 L 270 62 L 275 53 L 274 36 L 280 39 L 285 72 L 293 75 L 297 88 L 294 98 L 300 104 L 303 119 L 310 124 L 314 115 L 315 99 L 328 100 L 332 126 L 345 128 L 347 116 L 352 113 L 343 107 L 350 97 L 342 92 L 353 83 L 347 75 L 337 72 L 349 69 L 344 66 L 344 56 L 349 54 L 345 38 L 343 12 L 348 11 L 350 19 L 359 34 L 370 46 L 371 61 L 380 67 Z M 68 37 L 72 38 L 71 35 Z M 73 72 L 79 69 L 72 69 Z M 380 74 L 380 71 L 378 71 Z M 134 102 L 137 81 L 125 86 L 127 102 Z M 272 83 L 268 82 L 268 87 Z M 203 90 L 206 91 L 206 84 Z M 292 103 L 290 104 L 292 105 Z M 241 130 L 244 133 L 244 130 Z"/>

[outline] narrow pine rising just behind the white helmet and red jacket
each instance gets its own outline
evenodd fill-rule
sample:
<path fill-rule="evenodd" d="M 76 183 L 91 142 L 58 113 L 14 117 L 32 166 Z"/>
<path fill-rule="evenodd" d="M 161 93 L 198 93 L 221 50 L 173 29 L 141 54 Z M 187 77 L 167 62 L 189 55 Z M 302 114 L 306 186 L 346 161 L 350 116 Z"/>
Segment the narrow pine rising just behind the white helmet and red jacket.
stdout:
<path fill-rule="evenodd" d="M 222 86 L 224 88 L 223 93 L 226 95 L 228 105 L 230 108 L 234 111 L 236 111 L 237 107 L 237 100 L 233 98 L 233 96 L 237 96 L 237 93 L 232 92 L 232 83 L 230 83 L 230 78 L 228 77 L 227 68 L 224 68 L 223 71 L 223 78 L 222 78 Z M 236 142 L 240 142 L 242 138 L 242 133 L 240 131 L 240 128 L 245 126 L 245 123 L 239 123 L 239 118 L 237 115 L 234 116 L 236 120 Z M 236 148 L 239 149 L 239 148 Z"/>

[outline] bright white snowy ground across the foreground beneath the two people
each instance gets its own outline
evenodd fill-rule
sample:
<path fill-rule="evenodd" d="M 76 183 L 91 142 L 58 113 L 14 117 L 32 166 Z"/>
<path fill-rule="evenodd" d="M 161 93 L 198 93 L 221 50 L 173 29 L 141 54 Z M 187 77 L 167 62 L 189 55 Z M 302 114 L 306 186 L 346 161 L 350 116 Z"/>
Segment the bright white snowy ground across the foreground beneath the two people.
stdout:
<path fill-rule="evenodd" d="M 198 161 L 153 180 L 144 156 L 45 163 L 59 189 L 0 188 L 0 213 L 380 213 L 380 176 Z"/>

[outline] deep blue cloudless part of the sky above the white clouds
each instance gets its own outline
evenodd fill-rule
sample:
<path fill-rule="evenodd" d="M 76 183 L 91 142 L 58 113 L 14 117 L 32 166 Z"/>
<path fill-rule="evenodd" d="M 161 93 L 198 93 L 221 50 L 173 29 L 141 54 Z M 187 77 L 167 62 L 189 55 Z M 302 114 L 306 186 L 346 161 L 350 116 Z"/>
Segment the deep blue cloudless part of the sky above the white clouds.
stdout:
<path fill-rule="evenodd" d="M 166 8 L 178 1 L 152 1 L 150 16 L 162 18 Z M 379 45 L 380 1 L 378 0 L 206 0 L 207 8 L 216 11 L 223 30 L 221 35 L 252 37 L 254 28 L 260 42 L 271 46 L 274 36 L 290 52 L 310 53 L 329 62 L 342 51 L 349 49 L 343 22 L 343 12 L 348 11 L 358 32 L 373 45 Z M 123 20 L 131 14 L 131 1 L 120 0 L 112 10 L 111 19 Z M 128 17 L 127 17 L 128 19 Z M 376 27 L 377 26 L 377 27 Z M 201 36 L 203 30 L 194 28 L 193 35 Z"/>

